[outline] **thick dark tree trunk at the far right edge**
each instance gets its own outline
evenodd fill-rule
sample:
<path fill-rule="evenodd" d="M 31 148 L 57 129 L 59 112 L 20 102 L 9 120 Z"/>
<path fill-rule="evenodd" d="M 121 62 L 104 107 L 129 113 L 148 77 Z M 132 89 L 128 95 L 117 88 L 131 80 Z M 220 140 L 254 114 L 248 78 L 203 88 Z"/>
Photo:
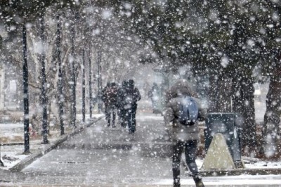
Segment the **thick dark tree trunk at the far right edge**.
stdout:
<path fill-rule="evenodd" d="M 281 116 L 281 63 L 277 62 L 270 76 L 266 95 L 266 114 L 262 129 L 262 148 L 260 153 L 266 157 L 280 157 L 280 116 Z"/>

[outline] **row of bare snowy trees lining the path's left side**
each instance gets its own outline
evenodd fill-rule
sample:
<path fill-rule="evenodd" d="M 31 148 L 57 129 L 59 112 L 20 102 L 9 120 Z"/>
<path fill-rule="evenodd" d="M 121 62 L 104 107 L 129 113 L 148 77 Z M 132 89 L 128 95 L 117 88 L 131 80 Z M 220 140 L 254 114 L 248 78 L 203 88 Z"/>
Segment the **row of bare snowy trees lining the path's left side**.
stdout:
<path fill-rule="evenodd" d="M 130 42 L 124 27 L 110 15 L 109 7 L 96 6 L 90 1 L 1 1 L 1 9 L 4 23 L 1 27 L 7 33 L 5 37 L 1 34 L 1 56 L 23 72 L 20 79 L 23 79 L 25 152 L 30 149 L 30 101 L 37 105 L 32 123 L 37 119 L 42 126 L 38 130 L 43 129 L 43 143 L 48 143 L 51 113 L 58 114 L 61 134 L 64 124 L 76 126 L 79 79 L 85 121 L 86 84 L 91 117 L 93 95 L 98 96 L 102 86 L 101 75 L 106 75 L 105 82 L 119 82 L 126 74 L 122 70 L 138 59 L 139 46 Z M 129 55 L 132 53 L 136 56 Z M 98 89 L 93 89 L 93 84 Z M 58 105 L 57 110 L 51 107 L 53 104 Z"/>

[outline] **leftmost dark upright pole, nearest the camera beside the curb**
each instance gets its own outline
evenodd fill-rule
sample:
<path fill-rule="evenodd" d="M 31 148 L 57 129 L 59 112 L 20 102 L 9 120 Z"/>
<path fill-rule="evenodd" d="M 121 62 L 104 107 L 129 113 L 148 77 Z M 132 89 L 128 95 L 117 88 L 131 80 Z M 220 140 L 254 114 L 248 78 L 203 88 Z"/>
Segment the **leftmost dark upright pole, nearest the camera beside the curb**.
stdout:
<path fill-rule="evenodd" d="M 23 89 L 23 110 L 24 110 L 24 138 L 25 138 L 25 153 L 30 153 L 30 115 L 29 115 L 29 101 L 28 101 L 28 67 L 27 67 L 27 39 L 26 39 L 25 23 L 22 25 L 22 89 Z"/>

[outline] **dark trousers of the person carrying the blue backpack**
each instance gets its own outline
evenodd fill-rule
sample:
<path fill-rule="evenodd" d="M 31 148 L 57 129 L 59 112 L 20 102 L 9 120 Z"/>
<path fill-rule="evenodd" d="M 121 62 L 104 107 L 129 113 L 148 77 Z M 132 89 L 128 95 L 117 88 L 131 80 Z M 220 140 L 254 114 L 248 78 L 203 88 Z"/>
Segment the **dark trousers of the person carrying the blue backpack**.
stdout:
<path fill-rule="evenodd" d="M 173 145 L 173 177 L 174 183 L 179 183 L 181 174 L 181 154 L 185 150 L 185 162 L 188 165 L 188 169 L 192 173 L 193 178 L 198 175 L 198 168 L 195 162 L 197 141 L 177 141 Z"/>

